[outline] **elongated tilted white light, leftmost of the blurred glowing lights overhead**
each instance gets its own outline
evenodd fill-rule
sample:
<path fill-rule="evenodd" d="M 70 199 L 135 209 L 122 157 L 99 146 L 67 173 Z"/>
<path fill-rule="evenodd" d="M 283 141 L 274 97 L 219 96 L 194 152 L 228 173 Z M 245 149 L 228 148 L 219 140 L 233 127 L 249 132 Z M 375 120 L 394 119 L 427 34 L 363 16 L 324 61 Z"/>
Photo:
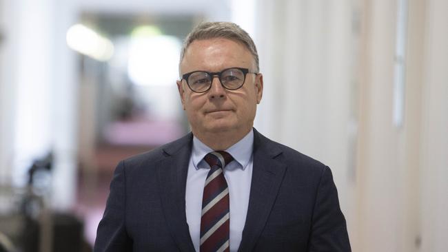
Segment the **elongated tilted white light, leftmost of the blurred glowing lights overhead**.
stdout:
<path fill-rule="evenodd" d="M 70 27 L 66 39 L 72 50 L 97 61 L 108 61 L 114 55 L 112 42 L 84 25 L 76 24 Z"/>

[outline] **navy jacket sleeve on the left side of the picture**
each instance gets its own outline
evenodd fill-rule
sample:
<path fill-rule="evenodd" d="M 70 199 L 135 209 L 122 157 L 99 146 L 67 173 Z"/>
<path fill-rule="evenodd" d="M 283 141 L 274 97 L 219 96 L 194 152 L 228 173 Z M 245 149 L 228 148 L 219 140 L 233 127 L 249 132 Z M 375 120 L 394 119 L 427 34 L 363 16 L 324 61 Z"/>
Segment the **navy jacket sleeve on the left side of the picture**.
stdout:
<path fill-rule="evenodd" d="M 110 183 L 110 194 L 103 218 L 96 231 L 94 252 L 132 251 L 132 240 L 125 227 L 126 177 L 121 161 Z"/>

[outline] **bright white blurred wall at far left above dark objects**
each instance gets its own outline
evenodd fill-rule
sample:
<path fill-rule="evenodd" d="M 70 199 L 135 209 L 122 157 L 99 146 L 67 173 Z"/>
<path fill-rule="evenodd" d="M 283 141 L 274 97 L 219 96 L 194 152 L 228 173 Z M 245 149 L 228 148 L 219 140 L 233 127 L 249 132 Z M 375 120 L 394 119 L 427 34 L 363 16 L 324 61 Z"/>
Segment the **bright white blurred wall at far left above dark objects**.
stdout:
<path fill-rule="evenodd" d="M 3 4 L 1 179 L 23 185 L 31 162 L 54 151 L 52 203 L 68 209 L 77 162 L 75 78 L 70 74 L 76 69 L 65 45 L 70 5 L 53 0 Z"/>

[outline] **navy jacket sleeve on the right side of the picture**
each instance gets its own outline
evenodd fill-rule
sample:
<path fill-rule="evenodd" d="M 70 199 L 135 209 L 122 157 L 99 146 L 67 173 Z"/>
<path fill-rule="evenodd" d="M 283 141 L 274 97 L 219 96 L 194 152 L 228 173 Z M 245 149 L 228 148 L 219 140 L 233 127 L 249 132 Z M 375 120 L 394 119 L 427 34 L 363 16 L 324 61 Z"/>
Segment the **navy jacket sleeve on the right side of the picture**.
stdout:
<path fill-rule="evenodd" d="M 352 251 L 329 167 L 325 167 L 320 176 L 307 251 Z"/>

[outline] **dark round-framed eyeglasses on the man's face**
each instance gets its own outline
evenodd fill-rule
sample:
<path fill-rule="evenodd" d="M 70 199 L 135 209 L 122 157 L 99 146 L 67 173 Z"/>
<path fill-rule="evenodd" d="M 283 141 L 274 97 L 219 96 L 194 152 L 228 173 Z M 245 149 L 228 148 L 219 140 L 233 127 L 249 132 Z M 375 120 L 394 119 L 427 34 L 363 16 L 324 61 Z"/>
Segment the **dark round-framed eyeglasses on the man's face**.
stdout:
<path fill-rule="evenodd" d="M 193 92 L 204 93 L 210 90 L 214 76 L 218 76 L 221 85 L 227 90 L 238 90 L 243 87 L 246 74 L 258 74 L 251 72 L 247 68 L 231 67 L 221 72 L 194 71 L 182 75 L 182 79 L 187 81 L 188 87 Z"/>

